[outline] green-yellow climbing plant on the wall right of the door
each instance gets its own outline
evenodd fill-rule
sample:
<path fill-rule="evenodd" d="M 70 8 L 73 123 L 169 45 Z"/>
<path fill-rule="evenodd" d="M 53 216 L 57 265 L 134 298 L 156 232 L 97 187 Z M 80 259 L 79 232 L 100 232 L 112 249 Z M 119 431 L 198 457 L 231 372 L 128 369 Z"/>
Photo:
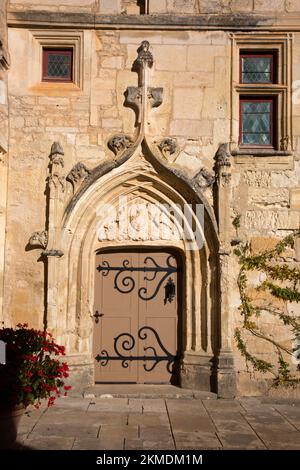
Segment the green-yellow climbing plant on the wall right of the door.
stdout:
<path fill-rule="evenodd" d="M 299 364 L 296 372 L 291 372 L 291 360 L 293 355 L 295 355 L 295 345 L 300 344 L 300 317 L 287 313 L 285 308 L 288 302 L 300 302 L 300 269 L 283 261 L 284 251 L 287 248 L 293 248 L 296 238 L 299 237 L 300 230 L 295 231 L 292 235 L 288 235 L 280 241 L 274 249 L 265 250 L 258 254 L 251 252 L 248 243 L 234 250 L 240 264 L 237 282 L 241 298 L 239 310 L 243 318 L 242 326 L 235 329 L 234 337 L 240 353 L 246 360 L 247 366 L 250 364 L 253 370 L 262 373 L 271 372 L 274 375 L 274 385 L 296 384 L 300 382 Z M 264 302 L 262 306 L 257 306 L 257 303 L 251 299 L 248 293 L 248 273 L 251 271 L 263 273 L 261 276 L 263 280 L 255 288 L 258 292 L 268 292 L 271 295 L 266 297 L 281 299 L 283 302 L 270 301 L 268 303 Z M 271 334 L 262 331 L 259 326 L 259 318 L 263 311 L 269 312 L 287 327 L 292 336 L 290 348 L 277 341 Z M 259 359 L 251 354 L 244 339 L 245 331 L 259 340 L 269 342 L 274 346 L 277 353 L 277 364 L 276 362 L 272 363 Z"/>

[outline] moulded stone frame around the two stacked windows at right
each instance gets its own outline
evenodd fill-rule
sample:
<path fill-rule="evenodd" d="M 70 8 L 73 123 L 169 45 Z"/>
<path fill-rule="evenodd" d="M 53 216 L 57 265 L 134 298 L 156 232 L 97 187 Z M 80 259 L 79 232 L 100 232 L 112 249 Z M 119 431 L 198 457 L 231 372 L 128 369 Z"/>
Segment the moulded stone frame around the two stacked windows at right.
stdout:
<path fill-rule="evenodd" d="M 237 33 L 231 35 L 232 41 L 232 76 L 231 76 L 231 152 L 236 156 L 253 157 L 287 157 L 292 150 L 292 34 L 278 33 Z M 252 84 L 241 83 L 240 56 L 242 51 L 255 51 L 265 54 L 266 51 L 277 56 L 277 80 L 274 83 Z M 277 101 L 276 127 L 277 135 L 274 148 L 243 148 L 240 137 L 240 97 L 269 96 Z M 245 159 L 246 160 L 246 159 Z M 255 158 L 255 160 L 257 160 Z M 240 162 L 240 161 L 239 161 Z M 280 160 L 282 163 L 282 159 Z M 279 163 L 279 162 L 278 162 Z"/>

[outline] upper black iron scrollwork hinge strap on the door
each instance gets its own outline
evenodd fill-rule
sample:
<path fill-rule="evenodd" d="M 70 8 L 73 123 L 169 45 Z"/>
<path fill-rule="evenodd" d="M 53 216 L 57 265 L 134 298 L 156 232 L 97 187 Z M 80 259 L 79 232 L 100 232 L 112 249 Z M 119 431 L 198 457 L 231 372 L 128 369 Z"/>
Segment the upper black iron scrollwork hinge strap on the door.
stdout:
<path fill-rule="evenodd" d="M 97 271 L 102 273 L 102 276 L 108 276 L 111 271 L 116 271 L 114 279 L 114 288 L 117 289 L 121 294 L 129 294 L 135 288 L 135 280 L 132 275 L 134 272 L 149 273 L 144 276 L 144 281 L 152 282 L 156 280 L 158 273 L 164 273 L 159 279 L 156 287 L 153 289 L 152 294 L 148 292 L 147 287 L 140 287 L 138 290 L 138 296 L 142 300 L 152 300 L 157 295 L 161 285 L 173 273 L 180 271 L 177 266 L 173 266 L 171 261 L 175 258 L 170 255 L 167 258 L 167 266 L 159 266 L 156 261 L 151 257 L 147 256 L 144 259 L 144 266 L 133 267 L 130 266 L 130 261 L 125 259 L 122 266 L 110 266 L 108 261 L 102 261 L 102 264 L 97 267 Z M 149 264 L 152 263 L 152 266 Z"/>

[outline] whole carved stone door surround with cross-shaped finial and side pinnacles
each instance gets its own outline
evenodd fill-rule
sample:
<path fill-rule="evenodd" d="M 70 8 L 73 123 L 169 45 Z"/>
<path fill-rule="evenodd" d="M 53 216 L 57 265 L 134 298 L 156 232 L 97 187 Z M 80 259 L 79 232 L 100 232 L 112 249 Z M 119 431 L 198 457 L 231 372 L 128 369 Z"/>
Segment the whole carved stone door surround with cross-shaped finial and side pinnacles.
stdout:
<path fill-rule="evenodd" d="M 78 388 L 91 385 L 95 254 L 108 247 L 172 247 L 181 255 L 185 272 L 180 312 L 180 383 L 183 387 L 213 389 L 219 396 L 233 397 L 235 372 L 227 300 L 230 243 L 226 238 L 231 156 L 228 146 L 221 146 L 216 155 L 216 174 L 202 169 L 192 179 L 170 165 L 166 156 L 177 152 L 177 143 L 168 138 L 150 138 L 148 132 L 151 110 L 163 99 L 161 88 L 149 86 L 153 63 L 149 43 L 143 41 L 138 52 L 135 70 L 139 86 L 130 87 L 129 93 L 136 100 L 135 135 L 112 136 L 108 145 L 113 158 L 94 169 L 77 164 L 67 175 L 64 151 L 59 143 L 52 145 L 47 182 L 47 246 L 42 253 L 47 277 L 45 323 L 57 341 L 66 346 L 73 384 Z M 216 207 L 202 192 L 202 188 L 211 186 Z M 119 197 L 126 197 L 129 205 L 136 201 L 171 205 L 185 221 L 185 235 L 168 240 L 99 236 L 99 224 L 105 227 L 106 223 L 105 214 L 99 209 L 104 204 L 116 207 Z M 191 208 L 188 218 L 184 213 L 186 204 Z M 197 220 L 197 204 L 204 207 L 203 226 Z M 172 223 L 175 225 L 175 219 Z M 196 243 L 193 224 L 202 237 L 201 247 Z"/>

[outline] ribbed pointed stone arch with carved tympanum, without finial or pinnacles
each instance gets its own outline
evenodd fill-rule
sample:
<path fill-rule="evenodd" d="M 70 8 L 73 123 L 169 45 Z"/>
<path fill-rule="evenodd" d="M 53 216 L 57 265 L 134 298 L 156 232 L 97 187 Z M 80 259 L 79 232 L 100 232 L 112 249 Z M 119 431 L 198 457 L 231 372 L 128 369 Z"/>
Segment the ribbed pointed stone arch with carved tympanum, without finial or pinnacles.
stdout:
<path fill-rule="evenodd" d="M 184 184 L 183 186 L 186 186 Z M 192 207 L 199 203 L 199 196 L 192 198 L 191 191 L 186 195 L 178 191 L 176 178 L 159 175 L 146 159 L 136 152 L 122 166 L 94 181 L 80 198 L 67 208 L 60 232 L 61 258 L 49 259 L 56 264 L 52 279 L 48 281 L 50 292 L 56 292 L 56 302 L 49 302 L 48 326 L 62 335 L 67 350 L 72 351 L 72 361 L 81 372 L 92 381 L 92 330 L 94 303 L 94 259 L 95 253 L 107 247 L 172 247 L 177 249 L 184 261 L 184 303 L 183 303 L 183 345 L 181 364 L 181 383 L 183 386 L 210 390 L 211 361 L 218 354 L 218 299 L 212 292 L 217 292 L 218 250 L 216 232 L 212 221 L 204 224 L 203 247 L 191 249 L 193 238 L 192 220 L 187 220 L 184 206 Z M 121 202 L 120 202 L 121 201 Z M 119 234 L 118 221 L 111 218 L 111 212 L 122 213 L 122 204 L 130 208 L 143 208 L 142 230 L 135 228 L 134 233 Z M 159 218 L 160 229 L 153 233 L 152 214 L 149 208 L 166 205 L 174 207 L 170 220 L 163 220 L 163 213 L 155 214 Z M 106 209 L 110 208 L 107 215 Z M 193 212 L 193 211 L 192 211 Z M 180 238 L 180 224 L 185 221 L 186 234 Z M 206 218 L 208 218 L 206 216 Z M 146 220 L 147 219 L 147 220 Z M 130 224 L 138 221 L 131 220 Z M 167 234 L 164 236 L 164 224 Z M 170 226 L 171 224 L 171 226 Z M 146 233 L 144 230 L 147 227 Z M 157 223 L 156 223 L 157 227 Z M 169 232 L 168 232 L 169 229 Z M 199 231 L 201 227 L 199 228 Z M 171 233 L 171 236 L 169 236 Z M 213 267 L 212 267 L 213 266 Z M 52 269 L 48 269 L 51 274 Z M 199 289 L 199 286 L 204 286 Z M 214 331 L 213 331 L 214 330 Z M 86 364 L 86 366 L 84 366 Z"/>

